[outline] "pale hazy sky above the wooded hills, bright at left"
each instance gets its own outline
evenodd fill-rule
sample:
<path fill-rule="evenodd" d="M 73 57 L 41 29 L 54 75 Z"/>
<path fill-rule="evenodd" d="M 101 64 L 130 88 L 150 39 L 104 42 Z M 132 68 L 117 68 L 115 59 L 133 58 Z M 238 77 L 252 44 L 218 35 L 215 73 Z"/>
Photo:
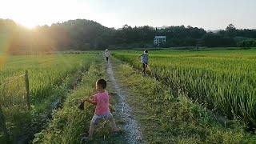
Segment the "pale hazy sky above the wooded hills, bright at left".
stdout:
<path fill-rule="evenodd" d="M 0 18 L 24 26 L 85 18 L 103 26 L 197 26 L 256 29 L 256 0 L 1 0 Z"/>

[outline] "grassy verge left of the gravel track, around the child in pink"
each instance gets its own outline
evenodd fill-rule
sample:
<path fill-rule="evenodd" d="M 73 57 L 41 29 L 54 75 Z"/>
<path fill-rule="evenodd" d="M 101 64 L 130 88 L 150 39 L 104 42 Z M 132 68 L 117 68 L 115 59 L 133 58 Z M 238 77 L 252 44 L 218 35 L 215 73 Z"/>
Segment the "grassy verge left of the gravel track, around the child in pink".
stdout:
<path fill-rule="evenodd" d="M 89 130 L 94 106 L 86 104 L 86 110 L 79 110 L 79 100 L 95 94 L 95 82 L 98 78 L 106 78 L 105 72 L 102 64 L 96 63 L 90 66 L 80 85 L 66 98 L 63 108 L 54 112 L 53 119 L 45 130 L 35 134 L 33 143 L 80 143 L 82 135 L 87 134 Z M 110 92 L 110 104 L 115 106 L 117 100 L 112 98 L 110 82 L 107 90 Z M 122 125 L 122 120 L 117 119 L 117 123 L 118 126 Z M 120 128 L 120 130 L 125 133 L 124 129 Z M 114 136 L 110 122 L 104 126 L 101 122 L 96 126 L 94 139 L 90 143 L 126 143 L 125 134 L 122 135 Z"/>

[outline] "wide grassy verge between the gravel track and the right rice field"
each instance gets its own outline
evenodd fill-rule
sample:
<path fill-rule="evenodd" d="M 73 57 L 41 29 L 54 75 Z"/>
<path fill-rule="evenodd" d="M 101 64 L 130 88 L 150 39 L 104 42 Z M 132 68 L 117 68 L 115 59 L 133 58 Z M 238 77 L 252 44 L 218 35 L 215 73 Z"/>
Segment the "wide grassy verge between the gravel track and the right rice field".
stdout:
<path fill-rule="evenodd" d="M 134 106 L 145 143 L 256 142 L 255 135 L 247 133 L 238 121 L 222 126 L 204 106 L 154 78 L 143 77 L 134 67 L 119 62 L 115 71 L 119 84 L 127 90 L 126 100 Z"/>

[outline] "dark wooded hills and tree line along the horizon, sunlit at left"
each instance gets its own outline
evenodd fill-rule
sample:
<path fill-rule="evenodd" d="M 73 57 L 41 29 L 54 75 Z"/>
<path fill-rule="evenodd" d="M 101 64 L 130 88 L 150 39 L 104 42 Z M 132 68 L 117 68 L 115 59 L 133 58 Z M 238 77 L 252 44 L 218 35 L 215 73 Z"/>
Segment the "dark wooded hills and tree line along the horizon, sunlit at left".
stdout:
<path fill-rule="evenodd" d="M 76 19 L 37 26 L 28 30 L 10 19 L 0 18 L 0 50 L 9 53 L 22 51 L 104 50 L 154 47 L 156 35 L 165 35 L 161 47 L 174 46 L 256 46 L 256 30 L 238 30 L 230 24 L 217 33 L 192 26 L 122 26 L 116 30 L 98 22 Z"/>

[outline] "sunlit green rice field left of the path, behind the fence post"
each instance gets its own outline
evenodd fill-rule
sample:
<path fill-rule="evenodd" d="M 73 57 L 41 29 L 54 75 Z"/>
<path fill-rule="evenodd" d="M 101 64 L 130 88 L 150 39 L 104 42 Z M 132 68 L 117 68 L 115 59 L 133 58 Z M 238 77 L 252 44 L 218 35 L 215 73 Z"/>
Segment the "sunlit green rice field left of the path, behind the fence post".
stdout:
<path fill-rule="evenodd" d="M 66 89 L 70 89 L 69 85 L 78 81 L 74 74 L 80 73 L 82 78 L 83 71 L 99 58 L 97 54 L 0 57 L 0 104 L 12 140 L 34 130 L 34 122 L 40 121 L 39 114 L 45 113 L 57 98 L 63 98 Z M 26 70 L 29 74 L 31 110 L 27 110 L 26 106 Z M 4 142 L 2 138 L 0 133 L 0 143 Z"/>

